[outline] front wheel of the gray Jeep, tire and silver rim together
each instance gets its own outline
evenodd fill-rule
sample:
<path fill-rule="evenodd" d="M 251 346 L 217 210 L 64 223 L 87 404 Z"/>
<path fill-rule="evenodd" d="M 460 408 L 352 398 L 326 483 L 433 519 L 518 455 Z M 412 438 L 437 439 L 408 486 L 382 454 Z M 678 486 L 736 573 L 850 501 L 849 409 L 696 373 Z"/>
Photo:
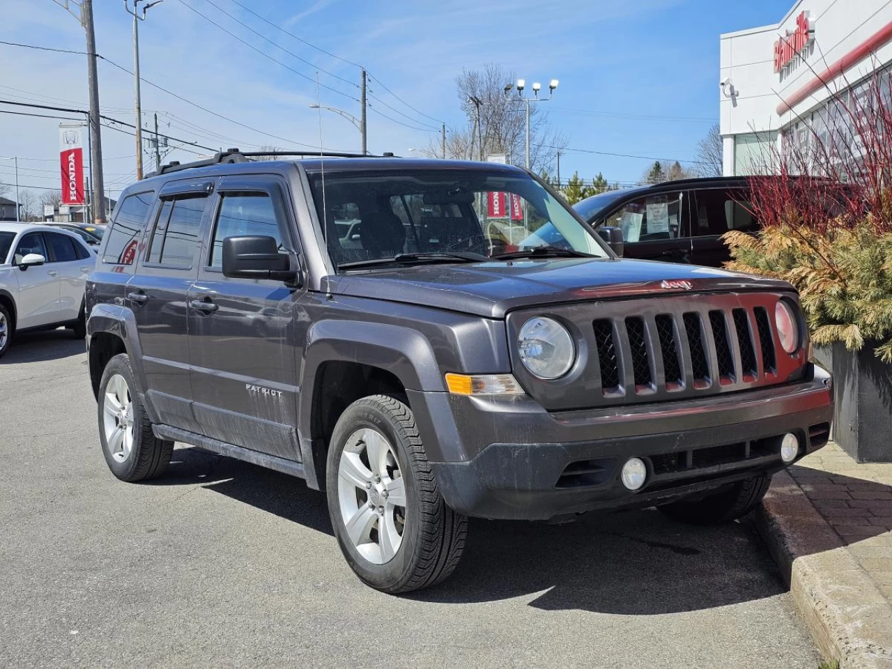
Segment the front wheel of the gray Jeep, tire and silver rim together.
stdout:
<path fill-rule="evenodd" d="M 326 466 L 328 513 L 344 558 L 377 590 L 421 590 L 447 578 L 467 518 L 446 506 L 403 402 L 372 395 L 338 419 Z"/>

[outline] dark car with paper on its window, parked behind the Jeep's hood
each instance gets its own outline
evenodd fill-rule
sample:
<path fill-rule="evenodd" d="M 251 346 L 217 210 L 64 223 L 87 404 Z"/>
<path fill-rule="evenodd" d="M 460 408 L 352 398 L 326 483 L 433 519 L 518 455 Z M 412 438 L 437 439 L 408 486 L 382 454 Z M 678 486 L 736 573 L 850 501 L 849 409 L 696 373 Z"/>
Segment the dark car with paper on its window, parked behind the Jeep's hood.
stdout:
<path fill-rule="evenodd" d="M 592 227 L 623 230 L 624 256 L 722 267 L 722 235 L 757 232 L 746 177 L 692 178 L 607 191 L 574 204 Z"/>

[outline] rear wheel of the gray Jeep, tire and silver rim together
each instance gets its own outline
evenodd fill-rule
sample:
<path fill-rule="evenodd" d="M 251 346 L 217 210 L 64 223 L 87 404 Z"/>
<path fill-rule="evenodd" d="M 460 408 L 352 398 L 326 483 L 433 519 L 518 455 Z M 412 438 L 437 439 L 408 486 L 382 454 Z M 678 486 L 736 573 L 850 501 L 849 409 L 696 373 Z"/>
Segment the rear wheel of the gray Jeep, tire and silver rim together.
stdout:
<path fill-rule="evenodd" d="M 109 360 L 99 383 L 99 438 L 105 462 L 121 481 L 161 476 L 173 454 L 173 442 L 152 431 L 127 353 Z"/>

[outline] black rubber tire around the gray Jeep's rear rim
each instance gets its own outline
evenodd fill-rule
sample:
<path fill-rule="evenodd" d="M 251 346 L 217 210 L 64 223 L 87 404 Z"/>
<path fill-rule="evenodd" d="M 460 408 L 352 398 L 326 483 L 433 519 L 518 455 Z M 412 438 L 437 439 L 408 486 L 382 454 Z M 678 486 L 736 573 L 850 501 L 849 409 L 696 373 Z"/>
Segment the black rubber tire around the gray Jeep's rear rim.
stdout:
<path fill-rule="evenodd" d="M 132 413 L 133 445 L 123 461 L 115 458 L 109 447 L 105 430 L 105 394 L 114 376 L 122 376 L 127 383 Z M 112 420 L 114 420 L 112 418 Z M 117 421 L 116 421 L 117 422 Z M 99 439 L 103 445 L 103 456 L 111 473 L 121 481 L 135 482 L 157 478 L 164 474 L 173 454 L 173 442 L 159 439 L 152 432 L 152 423 L 145 415 L 143 396 L 136 386 L 133 368 L 127 353 L 119 353 L 109 360 L 99 382 Z"/>

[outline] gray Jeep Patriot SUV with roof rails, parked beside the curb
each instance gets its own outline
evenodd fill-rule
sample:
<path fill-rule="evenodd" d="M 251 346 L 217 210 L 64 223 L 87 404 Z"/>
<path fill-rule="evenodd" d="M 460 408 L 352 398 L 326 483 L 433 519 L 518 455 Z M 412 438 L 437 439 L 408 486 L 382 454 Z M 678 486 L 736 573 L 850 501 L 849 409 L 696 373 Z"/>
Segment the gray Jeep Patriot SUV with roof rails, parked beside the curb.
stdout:
<path fill-rule="evenodd" d="M 108 466 L 160 476 L 184 442 L 301 477 L 379 590 L 446 578 L 467 516 L 742 516 L 828 440 L 790 285 L 622 260 L 523 169 L 230 150 L 160 172 L 87 284 Z"/>

